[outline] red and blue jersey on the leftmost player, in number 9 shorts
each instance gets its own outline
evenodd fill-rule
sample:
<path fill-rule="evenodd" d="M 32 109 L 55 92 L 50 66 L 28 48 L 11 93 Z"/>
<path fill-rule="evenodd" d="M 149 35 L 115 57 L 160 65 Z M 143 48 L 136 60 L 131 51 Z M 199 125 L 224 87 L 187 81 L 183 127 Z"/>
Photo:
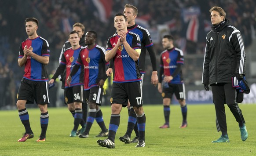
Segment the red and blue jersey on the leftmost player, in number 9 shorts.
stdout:
<path fill-rule="evenodd" d="M 24 47 L 32 47 L 33 53 L 39 56 L 48 56 L 50 57 L 49 44 L 47 40 L 38 36 L 37 38 L 30 40 L 29 38 L 23 41 L 19 48 L 19 56 L 18 58 L 22 58 L 24 56 Z M 25 63 L 24 69 L 24 78 L 33 80 L 33 81 L 48 81 L 48 73 L 46 69 L 46 65 L 38 62 L 31 56 L 27 56 L 27 61 Z"/>

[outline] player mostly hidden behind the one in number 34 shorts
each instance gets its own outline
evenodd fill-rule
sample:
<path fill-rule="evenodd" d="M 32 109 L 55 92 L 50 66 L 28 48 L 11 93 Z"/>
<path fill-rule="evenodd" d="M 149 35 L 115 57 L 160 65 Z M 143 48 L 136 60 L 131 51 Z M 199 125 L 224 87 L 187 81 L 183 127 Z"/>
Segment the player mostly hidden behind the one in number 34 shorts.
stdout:
<path fill-rule="evenodd" d="M 78 33 L 78 36 L 79 36 L 79 38 L 80 38 L 79 45 L 82 46 L 82 47 L 85 47 L 85 46 L 86 46 L 85 43 L 84 43 L 84 36 L 85 36 L 84 30 L 85 30 L 85 28 L 84 28 L 84 25 L 83 25 L 82 23 L 77 22 L 77 23 L 75 23 L 75 24 L 73 25 L 73 31 L 76 31 L 76 32 Z M 64 52 L 66 49 L 70 48 L 70 47 L 71 47 L 71 44 L 70 44 L 70 42 L 67 40 L 67 41 L 65 42 L 65 44 L 63 45 L 63 47 L 62 47 L 62 51 L 61 51 L 60 56 L 59 56 L 59 63 L 61 62 L 61 58 L 62 58 L 63 52 Z M 76 61 L 76 60 L 75 60 L 75 61 Z M 62 89 L 65 89 L 66 69 L 64 70 L 64 72 L 63 72 L 62 75 L 59 75 L 59 79 L 62 81 Z M 65 100 L 65 101 L 66 101 L 66 100 Z M 66 103 L 65 103 L 65 104 L 66 104 Z M 83 103 L 83 104 L 82 104 L 82 108 L 83 108 L 83 119 L 84 119 L 84 121 L 86 121 L 86 119 L 87 119 L 87 105 Z M 73 112 L 71 112 L 71 113 L 72 113 L 72 115 L 74 116 L 75 111 L 73 111 Z M 80 134 L 80 131 L 81 131 L 81 129 L 77 131 L 77 134 Z"/>

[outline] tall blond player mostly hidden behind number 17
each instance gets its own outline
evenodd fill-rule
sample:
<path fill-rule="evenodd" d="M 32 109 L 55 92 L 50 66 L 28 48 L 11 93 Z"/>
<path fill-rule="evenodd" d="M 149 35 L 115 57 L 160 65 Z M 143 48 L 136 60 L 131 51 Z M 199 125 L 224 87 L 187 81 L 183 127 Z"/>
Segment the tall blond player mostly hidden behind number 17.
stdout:
<path fill-rule="evenodd" d="M 135 18 L 138 15 L 138 9 L 137 7 L 131 5 L 131 4 L 125 4 L 124 6 L 124 15 L 127 18 L 127 30 L 132 32 L 132 33 L 136 33 L 139 35 L 139 38 L 141 40 L 141 54 L 139 56 L 139 69 L 140 69 L 140 73 L 141 73 L 141 78 L 142 78 L 142 84 L 143 84 L 143 78 L 144 78 L 144 74 L 145 72 L 145 60 L 146 60 L 146 50 L 149 52 L 150 54 L 150 61 L 152 64 L 152 68 L 153 68 L 153 72 L 151 75 L 151 83 L 153 85 L 157 85 L 158 84 L 158 77 L 157 77 L 157 59 L 156 59 L 156 55 L 154 52 L 154 48 L 153 48 L 153 43 L 150 37 L 150 33 L 148 32 L 147 29 L 135 24 Z M 110 62 L 110 67 L 111 67 L 111 62 Z M 112 69 L 108 69 L 106 71 L 106 74 L 108 76 L 110 76 L 110 74 L 112 73 Z M 129 106 L 129 101 L 128 101 L 128 106 Z M 138 126 L 136 123 L 136 114 L 134 112 L 134 110 L 132 109 L 132 107 L 128 108 L 128 126 L 127 126 L 127 131 L 124 134 L 124 136 L 119 137 L 120 141 L 123 141 L 124 143 L 137 143 L 139 140 L 139 132 L 138 132 Z M 134 129 L 135 131 L 135 138 L 133 138 L 130 141 L 131 138 L 131 134 L 132 134 L 132 130 Z"/>

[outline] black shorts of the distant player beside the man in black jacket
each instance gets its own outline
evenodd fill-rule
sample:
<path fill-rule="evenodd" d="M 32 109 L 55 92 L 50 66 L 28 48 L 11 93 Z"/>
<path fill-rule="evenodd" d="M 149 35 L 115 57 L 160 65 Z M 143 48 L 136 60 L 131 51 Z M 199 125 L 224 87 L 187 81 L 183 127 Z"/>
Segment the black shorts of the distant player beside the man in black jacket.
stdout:
<path fill-rule="evenodd" d="M 162 98 L 172 98 L 172 95 L 175 94 L 177 100 L 186 99 L 185 96 L 185 85 L 183 84 L 172 84 L 168 83 L 168 88 L 163 88 Z"/>

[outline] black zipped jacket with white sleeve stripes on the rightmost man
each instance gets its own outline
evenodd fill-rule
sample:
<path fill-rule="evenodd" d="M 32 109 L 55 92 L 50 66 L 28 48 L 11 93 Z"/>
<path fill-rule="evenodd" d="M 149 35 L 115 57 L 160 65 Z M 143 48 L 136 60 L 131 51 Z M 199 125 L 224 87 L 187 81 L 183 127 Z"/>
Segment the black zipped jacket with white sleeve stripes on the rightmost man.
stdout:
<path fill-rule="evenodd" d="M 206 36 L 203 84 L 232 83 L 236 74 L 245 76 L 245 47 L 238 29 L 226 19 Z"/>

